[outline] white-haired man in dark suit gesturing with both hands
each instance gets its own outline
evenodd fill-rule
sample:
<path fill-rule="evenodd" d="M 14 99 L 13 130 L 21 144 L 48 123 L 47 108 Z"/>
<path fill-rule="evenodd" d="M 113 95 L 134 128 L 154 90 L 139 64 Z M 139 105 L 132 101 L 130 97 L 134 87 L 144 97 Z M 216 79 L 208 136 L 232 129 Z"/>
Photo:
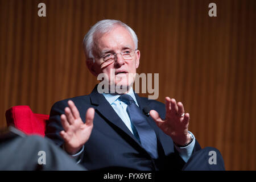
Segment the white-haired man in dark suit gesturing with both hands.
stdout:
<path fill-rule="evenodd" d="M 104 73 L 109 92 L 98 92 L 96 85 L 88 96 L 56 102 L 47 137 L 87 169 L 209 169 L 208 153 L 188 131 L 183 104 L 166 97 L 164 105 L 134 93 L 141 53 L 129 26 L 97 22 L 85 35 L 84 51 L 89 71 L 96 77 Z M 124 91 L 117 92 L 117 85 Z M 146 107 L 149 114 L 143 112 Z"/>

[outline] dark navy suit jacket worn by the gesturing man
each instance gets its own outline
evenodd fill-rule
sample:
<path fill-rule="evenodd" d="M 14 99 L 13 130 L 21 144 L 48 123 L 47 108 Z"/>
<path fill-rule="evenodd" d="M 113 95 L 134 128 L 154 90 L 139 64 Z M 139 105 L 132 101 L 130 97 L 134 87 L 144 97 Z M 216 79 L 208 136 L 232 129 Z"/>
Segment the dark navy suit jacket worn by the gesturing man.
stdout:
<path fill-rule="evenodd" d="M 165 105 L 155 100 L 139 97 L 135 94 L 141 109 L 148 107 L 158 111 L 160 117 L 165 118 Z M 82 166 L 92 169 L 138 169 L 138 170 L 163 170 L 181 169 L 185 162 L 175 150 L 171 137 L 164 134 L 151 117 L 145 117 L 155 130 L 158 139 L 158 159 L 152 159 L 142 148 L 141 144 L 126 127 L 125 123 L 115 113 L 113 107 L 105 97 L 97 92 L 97 85 L 92 93 L 87 96 L 69 98 L 56 102 L 51 109 L 49 122 L 46 126 L 46 136 L 61 146 L 63 139 L 59 132 L 63 130 L 60 115 L 64 114 L 67 101 L 72 100 L 80 112 L 82 121 L 85 122 L 85 113 L 89 107 L 95 109 L 93 130 L 88 142 L 85 143 Z M 200 150 L 196 142 L 194 152 Z"/>

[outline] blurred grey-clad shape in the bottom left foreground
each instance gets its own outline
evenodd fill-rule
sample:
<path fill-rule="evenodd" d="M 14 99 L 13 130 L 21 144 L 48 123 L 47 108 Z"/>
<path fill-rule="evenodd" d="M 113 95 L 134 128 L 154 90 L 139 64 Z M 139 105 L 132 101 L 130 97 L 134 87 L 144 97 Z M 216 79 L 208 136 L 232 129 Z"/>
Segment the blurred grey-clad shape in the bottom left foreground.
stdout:
<path fill-rule="evenodd" d="M 44 156 L 43 156 L 44 155 Z M 44 157 L 44 159 L 40 159 Z M 48 138 L 26 135 L 10 126 L 0 133 L 1 171 L 84 171 Z"/>

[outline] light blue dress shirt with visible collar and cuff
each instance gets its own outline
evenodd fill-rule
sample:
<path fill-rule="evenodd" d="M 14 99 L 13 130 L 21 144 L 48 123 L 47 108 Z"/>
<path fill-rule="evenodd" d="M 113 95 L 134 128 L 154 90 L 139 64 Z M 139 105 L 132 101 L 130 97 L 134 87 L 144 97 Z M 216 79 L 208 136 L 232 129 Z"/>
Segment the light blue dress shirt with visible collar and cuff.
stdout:
<path fill-rule="evenodd" d="M 112 94 L 105 94 L 105 93 L 102 93 L 102 94 L 106 98 L 106 100 L 109 102 L 109 104 L 113 107 L 115 112 L 119 115 L 119 117 L 122 119 L 122 121 L 125 123 L 125 125 L 128 127 L 128 129 L 131 131 L 131 133 L 133 133 L 133 129 L 132 129 L 133 126 L 131 125 L 130 117 L 126 111 L 127 104 L 125 104 L 125 102 L 119 101 L 118 98 L 120 97 L 120 95 L 112 95 Z M 127 94 L 129 94 L 133 98 L 137 106 L 139 106 L 132 88 L 129 90 Z M 190 156 L 192 155 L 193 148 L 196 143 L 195 136 L 191 132 L 189 132 L 189 134 L 193 136 L 193 141 L 188 146 L 177 147 L 175 145 L 176 150 L 179 152 L 181 158 L 185 162 L 187 162 Z"/>

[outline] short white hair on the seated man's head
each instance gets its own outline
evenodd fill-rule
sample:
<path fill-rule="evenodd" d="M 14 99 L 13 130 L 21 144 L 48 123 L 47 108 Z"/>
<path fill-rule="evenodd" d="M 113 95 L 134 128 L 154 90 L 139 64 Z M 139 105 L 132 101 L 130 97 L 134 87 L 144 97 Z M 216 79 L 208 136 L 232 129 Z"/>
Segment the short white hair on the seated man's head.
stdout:
<path fill-rule="evenodd" d="M 84 40 L 82 44 L 84 45 L 84 52 L 86 59 L 93 59 L 94 62 L 94 55 L 93 55 L 93 48 L 94 48 L 94 35 L 96 34 L 106 34 L 112 28 L 116 26 L 122 26 L 126 28 L 127 31 L 131 34 L 131 37 L 133 38 L 133 42 L 135 44 L 135 49 L 138 49 L 138 38 L 133 29 L 131 29 L 127 24 L 119 21 L 119 20 L 114 20 L 114 19 L 104 19 L 92 26 L 90 30 L 87 32 L 87 34 L 84 36 Z"/>

